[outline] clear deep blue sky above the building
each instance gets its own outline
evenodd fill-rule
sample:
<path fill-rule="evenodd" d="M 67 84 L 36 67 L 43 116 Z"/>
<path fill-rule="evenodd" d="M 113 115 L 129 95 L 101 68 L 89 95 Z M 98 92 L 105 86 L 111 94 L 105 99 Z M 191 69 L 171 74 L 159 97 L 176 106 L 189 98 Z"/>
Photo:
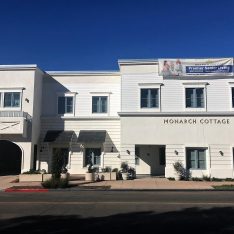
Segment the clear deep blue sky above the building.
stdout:
<path fill-rule="evenodd" d="M 0 64 L 43 70 L 234 57 L 233 0 L 1 0 L 0 25 Z"/>

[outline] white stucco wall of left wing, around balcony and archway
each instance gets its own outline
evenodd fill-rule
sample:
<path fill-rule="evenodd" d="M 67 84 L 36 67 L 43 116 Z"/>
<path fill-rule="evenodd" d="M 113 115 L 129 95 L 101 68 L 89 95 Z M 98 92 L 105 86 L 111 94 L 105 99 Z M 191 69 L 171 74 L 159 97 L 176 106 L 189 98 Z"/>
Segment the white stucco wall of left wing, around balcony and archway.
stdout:
<path fill-rule="evenodd" d="M 32 122 L 23 121 L 22 118 L 19 118 L 27 128 L 26 137 L 17 131 L 14 132 L 14 130 L 9 131 L 9 134 L 0 134 L 1 140 L 12 141 L 21 148 L 23 154 L 22 172 L 32 168 L 33 145 L 38 142 L 38 136 L 40 135 L 41 76 L 42 72 L 36 66 L 20 66 L 18 68 L 14 66 L 6 68 L 0 66 L 0 92 L 1 90 L 22 91 L 20 108 L 2 108 L 0 111 L 23 111 L 32 117 Z M 4 117 L 3 121 L 11 122 L 15 121 L 15 119 L 12 117 Z"/>

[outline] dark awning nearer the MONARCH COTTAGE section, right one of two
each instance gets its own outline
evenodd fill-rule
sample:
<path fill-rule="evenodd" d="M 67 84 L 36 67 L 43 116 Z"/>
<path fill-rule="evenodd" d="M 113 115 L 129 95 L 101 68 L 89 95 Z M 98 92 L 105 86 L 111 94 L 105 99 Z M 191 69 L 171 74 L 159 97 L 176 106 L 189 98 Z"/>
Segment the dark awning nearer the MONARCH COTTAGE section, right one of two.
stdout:
<path fill-rule="evenodd" d="M 103 143 L 105 139 L 105 130 L 81 130 L 77 141 L 79 143 Z"/>

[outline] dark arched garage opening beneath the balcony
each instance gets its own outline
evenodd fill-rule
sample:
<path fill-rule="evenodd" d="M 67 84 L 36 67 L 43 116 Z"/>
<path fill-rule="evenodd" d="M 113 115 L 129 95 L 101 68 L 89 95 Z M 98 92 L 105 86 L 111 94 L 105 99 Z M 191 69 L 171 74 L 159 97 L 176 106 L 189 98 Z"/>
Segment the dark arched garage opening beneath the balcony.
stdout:
<path fill-rule="evenodd" d="M 21 172 L 22 151 L 10 141 L 0 140 L 0 175 L 18 175 Z"/>

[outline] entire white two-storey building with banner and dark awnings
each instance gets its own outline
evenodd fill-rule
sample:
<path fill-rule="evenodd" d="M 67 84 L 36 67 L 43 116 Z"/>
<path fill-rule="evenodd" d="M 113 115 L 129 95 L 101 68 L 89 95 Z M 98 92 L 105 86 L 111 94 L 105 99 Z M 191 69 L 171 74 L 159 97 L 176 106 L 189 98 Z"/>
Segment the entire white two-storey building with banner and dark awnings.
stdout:
<path fill-rule="evenodd" d="M 118 72 L 0 66 L 0 173 L 72 174 L 92 161 L 138 175 L 233 178 L 233 59 L 119 60 Z M 1 166 L 2 165 L 2 166 Z"/>

